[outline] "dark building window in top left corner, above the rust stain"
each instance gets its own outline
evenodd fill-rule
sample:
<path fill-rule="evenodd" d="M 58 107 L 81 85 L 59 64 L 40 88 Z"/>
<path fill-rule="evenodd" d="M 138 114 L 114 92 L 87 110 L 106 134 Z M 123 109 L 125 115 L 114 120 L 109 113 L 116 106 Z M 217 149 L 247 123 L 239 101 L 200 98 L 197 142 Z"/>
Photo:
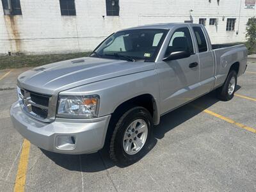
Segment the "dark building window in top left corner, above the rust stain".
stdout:
<path fill-rule="evenodd" d="M 20 0 L 2 0 L 4 15 L 22 15 Z"/>

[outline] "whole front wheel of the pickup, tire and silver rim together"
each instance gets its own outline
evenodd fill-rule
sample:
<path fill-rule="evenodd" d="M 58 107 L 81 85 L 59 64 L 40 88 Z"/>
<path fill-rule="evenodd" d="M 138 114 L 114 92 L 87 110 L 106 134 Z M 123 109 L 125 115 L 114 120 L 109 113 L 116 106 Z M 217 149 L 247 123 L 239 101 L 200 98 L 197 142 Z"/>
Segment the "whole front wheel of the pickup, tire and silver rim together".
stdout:
<path fill-rule="evenodd" d="M 152 126 L 152 116 L 147 109 L 129 109 L 115 125 L 109 147 L 110 158 L 123 165 L 140 160 L 147 152 Z"/>

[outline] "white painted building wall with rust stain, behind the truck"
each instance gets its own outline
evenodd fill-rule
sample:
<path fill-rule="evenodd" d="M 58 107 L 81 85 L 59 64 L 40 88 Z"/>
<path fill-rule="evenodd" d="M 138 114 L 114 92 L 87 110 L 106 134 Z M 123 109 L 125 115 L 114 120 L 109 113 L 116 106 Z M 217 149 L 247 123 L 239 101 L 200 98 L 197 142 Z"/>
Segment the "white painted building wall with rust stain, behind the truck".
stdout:
<path fill-rule="evenodd" d="M 120 0 L 119 17 L 106 16 L 105 0 L 75 2 L 76 16 L 61 16 L 59 0 L 20 0 L 22 15 L 12 17 L 4 15 L 0 3 L 0 53 L 92 51 L 119 29 L 191 18 L 194 23 L 207 19 L 213 44 L 244 42 L 246 22 L 256 15 L 255 9 L 244 8 L 244 0 L 220 0 L 219 5 L 217 0 Z M 217 18 L 218 26 L 209 26 L 210 18 Z M 227 18 L 236 18 L 235 31 L 226 31 Z"/>

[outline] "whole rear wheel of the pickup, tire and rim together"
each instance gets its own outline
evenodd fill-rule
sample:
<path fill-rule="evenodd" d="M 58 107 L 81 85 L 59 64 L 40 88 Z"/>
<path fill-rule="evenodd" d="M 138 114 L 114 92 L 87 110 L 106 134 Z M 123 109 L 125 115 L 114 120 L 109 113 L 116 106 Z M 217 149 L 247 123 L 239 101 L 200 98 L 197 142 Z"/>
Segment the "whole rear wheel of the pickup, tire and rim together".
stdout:
<path fill-rule="evenodd" d="M 230 100 L 234 97 L 237 84 L 237 73 L 235 70 L 231 70 L 228 73 L 227 79 L 223 86 L 218 88 L 217 97 L 221 100 Z"/>

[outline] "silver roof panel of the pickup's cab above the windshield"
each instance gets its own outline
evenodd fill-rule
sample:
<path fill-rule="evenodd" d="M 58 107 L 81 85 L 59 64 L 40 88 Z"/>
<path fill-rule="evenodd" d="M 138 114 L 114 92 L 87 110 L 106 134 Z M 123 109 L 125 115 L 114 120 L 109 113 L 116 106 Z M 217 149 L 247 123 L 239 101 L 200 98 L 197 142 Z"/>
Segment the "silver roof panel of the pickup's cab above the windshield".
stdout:
<path fill-rule="evenodd" d="M 170 22 L 170 23 L 157 23 L 157 24 L 147 24 L 143 26 L 137 26 L 134 28 L 127 28 L 127 29 L 122 29 L 120 31 L 124 30 L 130 30 L 130 29 L 171 29 L 173 26 L 177 25 L 183 25 L 183 26 L 188 26 L 191 25 L 190 23 L 184 23 L 184 22 Z M 193 26 L 202 26 L 201 24 L 193 24 Z"/>

